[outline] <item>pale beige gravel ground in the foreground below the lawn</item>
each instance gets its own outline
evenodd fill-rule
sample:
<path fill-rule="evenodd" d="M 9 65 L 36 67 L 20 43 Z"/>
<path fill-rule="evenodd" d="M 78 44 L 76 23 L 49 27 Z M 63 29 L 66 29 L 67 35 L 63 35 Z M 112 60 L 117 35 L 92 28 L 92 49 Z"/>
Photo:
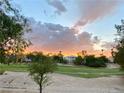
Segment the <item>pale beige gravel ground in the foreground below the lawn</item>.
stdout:
<path fill-rule="evenodd" d="M 38 86 L 25 72 L 0 75 L 0 93 L 38 93 Z M 52 84 L 43 93 L 124 93 L 124 77 L 85 79 L 50 74 Z"/>

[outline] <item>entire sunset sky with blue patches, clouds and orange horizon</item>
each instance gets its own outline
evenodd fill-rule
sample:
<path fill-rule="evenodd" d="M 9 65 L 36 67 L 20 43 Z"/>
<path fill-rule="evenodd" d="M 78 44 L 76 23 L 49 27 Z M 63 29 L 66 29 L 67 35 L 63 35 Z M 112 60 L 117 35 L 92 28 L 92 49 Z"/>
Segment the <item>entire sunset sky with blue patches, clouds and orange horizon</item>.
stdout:
<path fill-rule="evenodd" d="M 115 24 L 124 19 L 124 0 L 12 0 L 30 20 L 27 51 L 75 55 L 82 50 L 110 56 Z"/>

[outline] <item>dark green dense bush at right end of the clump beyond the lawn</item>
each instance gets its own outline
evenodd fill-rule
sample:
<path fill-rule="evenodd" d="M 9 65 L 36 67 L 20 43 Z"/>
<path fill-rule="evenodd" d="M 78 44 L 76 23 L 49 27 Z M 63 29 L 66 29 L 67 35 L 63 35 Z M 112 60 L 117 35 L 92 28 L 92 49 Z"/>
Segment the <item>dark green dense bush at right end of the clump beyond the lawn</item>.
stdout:
<path fill-rule="evenodd" d="M 89 67 L 106 67 L 106 61 L 103 60 L 103 57 L 96 58 L 94 55 L 85 57 L 86 66 Z"/>

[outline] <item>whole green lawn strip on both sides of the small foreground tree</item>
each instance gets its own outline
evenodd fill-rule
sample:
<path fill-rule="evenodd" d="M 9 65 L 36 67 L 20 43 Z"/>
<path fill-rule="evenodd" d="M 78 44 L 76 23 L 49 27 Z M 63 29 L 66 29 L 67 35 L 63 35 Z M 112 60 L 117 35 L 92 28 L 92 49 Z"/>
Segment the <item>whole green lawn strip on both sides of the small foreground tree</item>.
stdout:
<path fill-rule="evenodd" d="M 0 71 L 16 71 L 25 72 L 28 71 L 28 65 L 26 64 L 0 64 Z M 55 73 L 66 74 L 71 76 L 77 76 L 82 78 L 96 78 L 106 76 L 119 76 L 124 75 L 124 71 L 120 71 L 119 68 L 91 68 L 83 66 L 58 66 Z"/>

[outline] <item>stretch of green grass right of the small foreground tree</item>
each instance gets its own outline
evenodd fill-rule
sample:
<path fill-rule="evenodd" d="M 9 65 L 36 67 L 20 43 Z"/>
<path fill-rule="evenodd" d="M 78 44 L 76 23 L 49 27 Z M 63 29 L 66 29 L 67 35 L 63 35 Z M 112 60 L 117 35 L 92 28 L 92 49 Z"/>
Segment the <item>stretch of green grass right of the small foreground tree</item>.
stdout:
<path fill-rule="evenodd" d="M 96 78 L 124 75 L 119 68 L 91 68 L 82 66 L 59 66 L 57 73 L 77 76 L 82 78 Z"/>

